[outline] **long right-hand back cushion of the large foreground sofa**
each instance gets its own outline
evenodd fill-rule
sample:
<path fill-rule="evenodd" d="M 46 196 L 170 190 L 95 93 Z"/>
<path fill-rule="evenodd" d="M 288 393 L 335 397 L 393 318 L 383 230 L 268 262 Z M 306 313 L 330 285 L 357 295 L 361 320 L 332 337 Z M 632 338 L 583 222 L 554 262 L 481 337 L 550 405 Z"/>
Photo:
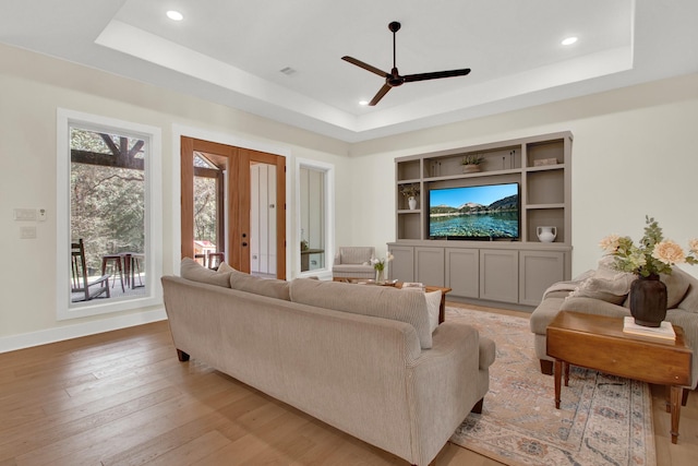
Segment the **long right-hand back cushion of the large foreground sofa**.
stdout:
<path fill-rule="evenodd" d="M 424 349 L 432 347 L 423 292 L 402 292 L 389 286 L 296 278 L 290 285 L 290 296 L 291 301 L 302 304 L 408 323 L 417 331 L 420 346 Z"/>

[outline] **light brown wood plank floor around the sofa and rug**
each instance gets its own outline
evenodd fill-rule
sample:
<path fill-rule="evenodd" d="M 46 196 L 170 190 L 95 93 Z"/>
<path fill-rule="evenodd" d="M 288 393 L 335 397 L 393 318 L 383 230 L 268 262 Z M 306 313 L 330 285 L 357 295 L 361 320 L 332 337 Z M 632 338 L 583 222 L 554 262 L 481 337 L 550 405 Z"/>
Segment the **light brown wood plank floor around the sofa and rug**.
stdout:
<path fill-rule="evenodd" d="M 406 465 L 195 360 L 179 362 L 166 322 L 0 354 L 0 466 Z M 698 393 L 682 410 L 677 445 L 663 394 L 653 387 L 658 465 L 696 464 Z M 446 444 L 436 464 L 500 463 Z"/>

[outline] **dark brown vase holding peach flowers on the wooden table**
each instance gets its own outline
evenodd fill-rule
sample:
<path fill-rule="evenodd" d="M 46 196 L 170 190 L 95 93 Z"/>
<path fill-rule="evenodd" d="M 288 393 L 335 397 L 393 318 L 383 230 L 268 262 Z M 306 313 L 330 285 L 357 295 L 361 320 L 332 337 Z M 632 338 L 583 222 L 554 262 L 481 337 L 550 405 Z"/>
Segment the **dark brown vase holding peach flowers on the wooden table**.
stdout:
<path fill-rule="evenodd" d="M 630 314 L 635 323 L 658 327 L 666 318 L 666 285 L 658 274 L 638 277 L 630 284 Z"/>

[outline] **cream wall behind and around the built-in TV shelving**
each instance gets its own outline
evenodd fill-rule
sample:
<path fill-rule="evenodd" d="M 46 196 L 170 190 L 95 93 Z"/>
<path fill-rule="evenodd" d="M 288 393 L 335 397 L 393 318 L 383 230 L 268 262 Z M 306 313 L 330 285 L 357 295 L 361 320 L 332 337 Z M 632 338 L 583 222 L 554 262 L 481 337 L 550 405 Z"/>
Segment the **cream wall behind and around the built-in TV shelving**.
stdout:
<path fill-rule="evenodd" d="M 645 215 L 684 248 L 698 237 L 698 74 L 354 144 L 352 239 L 384 254 L 395 240 L 394 159 L 443 148 L 569 130 L 573 274 L 595 267 L 598 242 L 642 236 Z M 698 276 L 698 267 L 686 267 Z"/>

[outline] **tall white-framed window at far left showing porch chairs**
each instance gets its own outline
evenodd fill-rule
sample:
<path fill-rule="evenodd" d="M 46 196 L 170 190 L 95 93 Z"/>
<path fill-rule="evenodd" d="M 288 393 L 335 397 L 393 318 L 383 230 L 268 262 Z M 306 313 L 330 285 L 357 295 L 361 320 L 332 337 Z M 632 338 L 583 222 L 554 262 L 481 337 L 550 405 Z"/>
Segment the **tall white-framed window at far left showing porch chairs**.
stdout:
<path fill-rule="evenodd" d="M 160 301 L 160 165 L 159 129 L 59 110 L 59 320 Z"/>

